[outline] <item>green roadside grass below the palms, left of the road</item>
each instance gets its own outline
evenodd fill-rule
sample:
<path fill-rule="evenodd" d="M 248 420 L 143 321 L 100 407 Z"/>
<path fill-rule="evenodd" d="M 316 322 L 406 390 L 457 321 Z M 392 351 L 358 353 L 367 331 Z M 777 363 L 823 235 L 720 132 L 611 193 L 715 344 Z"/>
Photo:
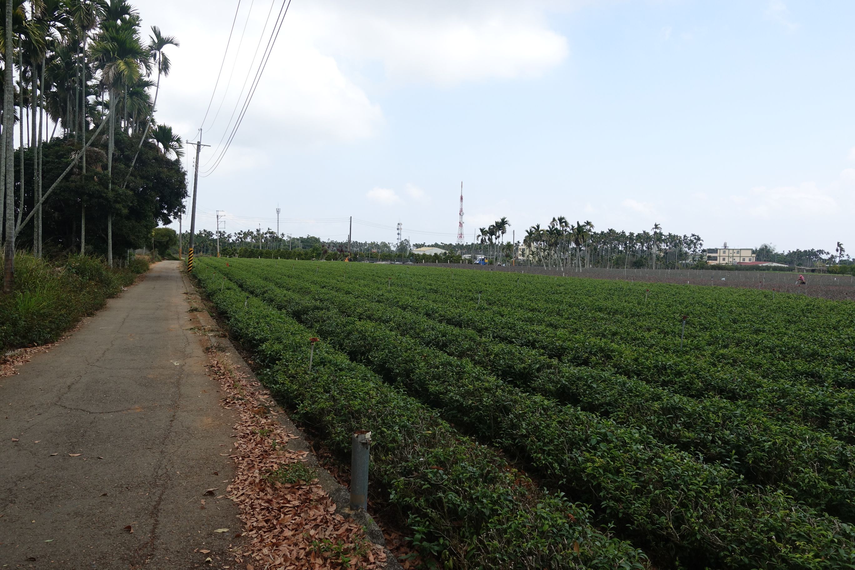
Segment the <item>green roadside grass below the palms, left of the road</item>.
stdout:
<path fill-rule="evenodd" d="M 144 257 L 110 269 L 103 259 L 68 256 L 56 260 L 15 256 L 15 291 L 0 295 L 0 350 L 47 344 L 81 317 L 148 271 Z"/>

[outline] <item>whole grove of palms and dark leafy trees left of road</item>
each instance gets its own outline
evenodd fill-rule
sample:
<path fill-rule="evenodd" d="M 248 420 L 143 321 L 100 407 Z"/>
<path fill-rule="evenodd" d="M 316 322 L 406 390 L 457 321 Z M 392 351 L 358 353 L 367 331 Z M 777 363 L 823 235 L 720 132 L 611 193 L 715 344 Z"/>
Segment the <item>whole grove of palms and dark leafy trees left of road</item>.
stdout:
<path fill-rule="evenodd" d="M 127 0 L 6 2 L 2 23 L 4 291 L 15 250 L 114 267 L 183 208 L 182 142 L 155 118 L 179 41 Z"/>

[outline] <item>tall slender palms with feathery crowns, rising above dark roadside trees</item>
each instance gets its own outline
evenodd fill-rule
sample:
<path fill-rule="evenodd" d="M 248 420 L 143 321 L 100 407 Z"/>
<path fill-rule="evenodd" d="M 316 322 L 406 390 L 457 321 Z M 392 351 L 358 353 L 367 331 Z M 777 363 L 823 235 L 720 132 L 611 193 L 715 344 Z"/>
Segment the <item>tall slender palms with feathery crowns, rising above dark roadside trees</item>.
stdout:
<path fill-rule="evenodd" d="M 141 36 L 139 12 L 127 0 L 0 0 L 3 27 L 3 144 L 0 144 L 0 216 L 3 224 L 4 290 L 14 279 L 15 235 L 22 219 L 34 212 L 32 250 L 42 255 L 42 179 L 44 151 L 59 136 L 78 148 L 91 141 L 91 130 L 106 123 L 107 196 L 114 193 L 113 159 L 117 131 L 139 137 L 166 155 L 180 154 L 180 138 L 168 126 L 158 126 L 152 137 L 155 105 L 161 77 L 169 73 L 166 50 L 178 47 L 176 38 L 153 26 L 148 42 Z M 7 25 L 10 22 L 11 25 Z M 154 91 L 153 93 L 151 91 Z M 5 112 L 7 111 L 8 112 Z M 50 122 L 53 129 L 50 130 Z M 18 132 L 15 133 L 15 126 Z M 166 134 L 168 132 L 168 139 Z M 20 164 L 15 174 L 14 137 L 18 135 Z M 25 164 L 24 150 L 32 156 Z M 87 174 L 86 152 L 75 150 L 81 184 Z M 136 156 L 121 188 L 136 163 Z M 32 169 L 32 172 L 27 172 Z M 74 174 L 73 174 L 74 175 Z M 17 179 L 15 179 L 17 178 Z M 29 180 L 29 182 L 25 182 Z M 54 180 L 49 180 L 49 185 Z M 32 188 L 30 187 L 32 185 Z M 32 203 L 24 197 L 32 197 Z M 80 251 L 85 252 L 86 197 L 80 196 Z M 107 214 L 107 260 L 112 266 L 112 218 Z M 26 223 L 26 221 L 24 222 Z"/>

